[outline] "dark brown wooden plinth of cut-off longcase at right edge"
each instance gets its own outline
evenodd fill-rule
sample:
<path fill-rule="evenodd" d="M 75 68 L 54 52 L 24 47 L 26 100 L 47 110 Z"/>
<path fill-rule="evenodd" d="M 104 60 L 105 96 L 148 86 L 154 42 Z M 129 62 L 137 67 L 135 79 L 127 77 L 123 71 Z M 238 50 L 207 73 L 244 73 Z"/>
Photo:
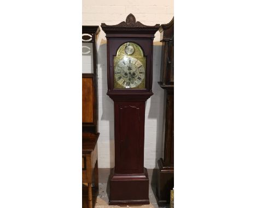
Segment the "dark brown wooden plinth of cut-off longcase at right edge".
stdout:
<path fill-rule="evenodd" d="M 165 166 L 162 158 L 158 160 L 158 184 L 156 186 L 156 201 L 159 207 L 170 204 L 170 191 L 173 188 L 174 168 Z"/>

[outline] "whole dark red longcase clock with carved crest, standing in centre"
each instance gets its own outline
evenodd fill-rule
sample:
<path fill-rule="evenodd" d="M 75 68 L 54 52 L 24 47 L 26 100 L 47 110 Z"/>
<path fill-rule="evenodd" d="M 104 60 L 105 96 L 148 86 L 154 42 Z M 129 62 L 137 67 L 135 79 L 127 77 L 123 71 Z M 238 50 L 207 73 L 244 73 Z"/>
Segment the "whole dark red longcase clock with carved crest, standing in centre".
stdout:
<path fill-rule="evenodd" d="M 153 39 L 159 25 L 143 25 L 129 14 L 125 22 L 113 26 L 102 23 L 101 28 L 107 38 L 107 95 L 114 101 L 115 118 L 115 167 L 110 174 L 109 205 L 149 204 L 149 179 L 144 168 L 145 102 L 153 95 Z M 124 57 L 115 62 L 122 47 Z M 116 88 L 120 79 L 123 85 L 119 83 Z"/>

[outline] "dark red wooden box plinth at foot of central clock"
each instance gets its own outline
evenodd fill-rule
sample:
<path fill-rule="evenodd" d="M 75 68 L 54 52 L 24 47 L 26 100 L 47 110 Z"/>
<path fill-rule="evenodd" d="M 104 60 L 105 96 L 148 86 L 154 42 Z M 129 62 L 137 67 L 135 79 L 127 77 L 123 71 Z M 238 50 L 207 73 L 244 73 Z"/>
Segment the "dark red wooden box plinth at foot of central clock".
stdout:
<path fill-rule="evenodd" d="M 149 204 L 147 169 L 141 174 L 110 174 L 109 205 Z"/>

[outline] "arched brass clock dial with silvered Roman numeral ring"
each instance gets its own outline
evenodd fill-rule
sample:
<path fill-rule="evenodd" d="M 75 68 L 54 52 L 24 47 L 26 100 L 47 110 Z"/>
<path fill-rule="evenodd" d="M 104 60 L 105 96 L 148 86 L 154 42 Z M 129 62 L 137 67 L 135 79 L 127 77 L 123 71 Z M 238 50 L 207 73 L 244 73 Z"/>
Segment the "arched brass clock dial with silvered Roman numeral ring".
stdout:
<path fill-rule="evenodd" d="M 114 57 L 115 88 L 145 88 L 146 57 L 141 47 L 126 42 L 118 49 Z"/>

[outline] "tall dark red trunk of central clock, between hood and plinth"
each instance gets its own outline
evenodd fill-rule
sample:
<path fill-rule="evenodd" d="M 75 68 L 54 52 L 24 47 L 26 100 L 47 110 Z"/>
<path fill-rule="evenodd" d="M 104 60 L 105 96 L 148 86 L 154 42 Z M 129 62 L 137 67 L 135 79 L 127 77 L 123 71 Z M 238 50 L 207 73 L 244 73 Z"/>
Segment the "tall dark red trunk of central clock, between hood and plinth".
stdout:
<path fill-rule="evenodd" d="M 143 173 L 143 102 L 115 101 L 115 172 Z"/>

